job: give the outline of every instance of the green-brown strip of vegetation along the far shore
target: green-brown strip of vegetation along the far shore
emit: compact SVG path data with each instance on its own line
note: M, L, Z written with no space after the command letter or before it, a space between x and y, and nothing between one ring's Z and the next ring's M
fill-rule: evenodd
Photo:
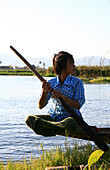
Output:
M43 76L55 76L53 67L40 68L36 70ZM0 75L34 75L31 70L0 70ZM110 66L76 66L74 73L76 77L96 78L96 77L110 77Z

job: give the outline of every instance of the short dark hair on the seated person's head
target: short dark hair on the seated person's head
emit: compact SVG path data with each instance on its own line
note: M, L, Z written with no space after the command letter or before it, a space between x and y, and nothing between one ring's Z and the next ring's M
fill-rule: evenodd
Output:
M53 69L57 75L60 75L63 69L67 67L67 61L74 63L73 56L65 51L60 51L58 54L54 54L53 57Z

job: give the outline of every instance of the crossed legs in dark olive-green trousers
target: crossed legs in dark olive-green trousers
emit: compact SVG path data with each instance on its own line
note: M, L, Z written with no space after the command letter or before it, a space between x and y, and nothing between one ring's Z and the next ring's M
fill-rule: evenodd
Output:
M65 135L68 132L77 132L81 128L71 117L61 122L52 122L49 115L30 115L26 118L26 124L36 133L43 136Z

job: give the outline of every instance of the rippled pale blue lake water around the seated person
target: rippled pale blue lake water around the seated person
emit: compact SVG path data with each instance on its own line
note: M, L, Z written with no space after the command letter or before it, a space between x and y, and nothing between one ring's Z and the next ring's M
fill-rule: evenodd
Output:
M49 78L46 78L49 79ZM110 127L110 84L84 84L86 103L81 109L89 125ZM38 156L36 147L44 149L53 144L64 145L65 137L43 137L34 134L25 124L32 114L47 114L51 105L38 109L41 82L29 76L0 76L0 159L22 160L31 154Z

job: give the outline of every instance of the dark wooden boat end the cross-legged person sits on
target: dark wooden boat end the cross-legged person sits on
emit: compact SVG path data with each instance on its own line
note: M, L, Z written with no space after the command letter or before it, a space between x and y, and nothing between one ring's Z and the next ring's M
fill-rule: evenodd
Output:
M97 128L96 126L91 126L91 128L101 137L104 139L104 141L107 144L110 144L110 128ZM63 136L65 136L65 134L61 134ZM78 138L78 139L83 139L83 140L89 140L92 141L91 138L85 133L85 132L81 132L81 133L69 133L68 137L72 137L72 138Z

